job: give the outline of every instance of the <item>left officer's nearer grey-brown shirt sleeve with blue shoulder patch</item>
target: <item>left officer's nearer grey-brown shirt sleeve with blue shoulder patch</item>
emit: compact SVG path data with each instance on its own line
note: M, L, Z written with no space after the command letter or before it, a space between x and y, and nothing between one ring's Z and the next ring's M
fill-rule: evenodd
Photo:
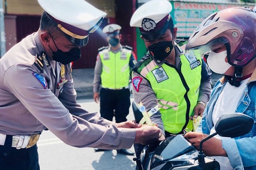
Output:
M37 74L38 78L33 76L34 72L36 70L31 65L10 67L4 74L4 87L63 142L76 147L106 149L132 146L136 129L117 128L113 124L102 126L72 116L51 90L47 89L45 78Z

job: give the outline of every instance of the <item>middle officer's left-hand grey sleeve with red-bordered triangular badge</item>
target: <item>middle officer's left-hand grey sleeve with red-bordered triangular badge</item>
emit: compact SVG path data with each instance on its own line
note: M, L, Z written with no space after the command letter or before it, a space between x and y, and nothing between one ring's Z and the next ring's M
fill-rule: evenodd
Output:
M157 97L151 88L150 83L140 74L132 73L132 93L136 103L142 102L148 112L157 105ZM157 111L150 117L151 121L158 124L162 133L165 134L161 113Z

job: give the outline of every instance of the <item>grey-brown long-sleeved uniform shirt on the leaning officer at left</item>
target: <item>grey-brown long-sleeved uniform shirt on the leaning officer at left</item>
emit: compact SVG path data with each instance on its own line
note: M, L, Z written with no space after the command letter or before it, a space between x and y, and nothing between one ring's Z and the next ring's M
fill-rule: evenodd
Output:
M41 134L47 128L75 147L130 148L135 129L117 128L99 113L82 109L76 103L71 64L64 66L65 73L59 62L36 64L35 56L42 51L35 32L0 59L0 133ZM64 78L67 82L58 86Z

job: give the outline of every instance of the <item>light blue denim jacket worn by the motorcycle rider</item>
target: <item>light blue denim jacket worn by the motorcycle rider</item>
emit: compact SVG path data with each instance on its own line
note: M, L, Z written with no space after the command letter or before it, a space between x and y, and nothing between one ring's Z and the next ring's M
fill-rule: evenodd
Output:
M210 134L212 123L212 111L219 94L226 85L222 77L215 84L210 100L204 110L202 122L197 131ZM244 113L254 119L252 130L238 138L222 139L222 148L226 151L231 166L235 170L256 170L256 69L246 84L246 88L238 102L236 112ZM227 106L228 107L228 106Z

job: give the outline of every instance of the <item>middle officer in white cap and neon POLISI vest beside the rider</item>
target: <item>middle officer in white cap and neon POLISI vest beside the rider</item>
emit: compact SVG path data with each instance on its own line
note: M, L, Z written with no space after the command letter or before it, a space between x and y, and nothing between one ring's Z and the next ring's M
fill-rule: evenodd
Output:
M171 11L169 1L151 0L135 11L130 22L139 28L148 49L133 67L134 100L154 113L151 120L165 137L183 134L185 128L192 130L191 119L202 115L211 92L206 63L196 58L196 53L184 54L185 42L174 41L177 27ZM156 105L160 108L157 112L153 109Z

